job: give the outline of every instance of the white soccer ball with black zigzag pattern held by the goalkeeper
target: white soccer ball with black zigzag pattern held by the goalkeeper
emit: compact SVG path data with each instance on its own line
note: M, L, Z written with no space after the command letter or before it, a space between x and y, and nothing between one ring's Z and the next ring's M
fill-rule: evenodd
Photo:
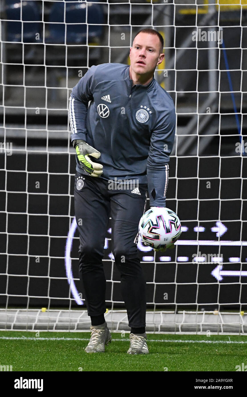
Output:
M181 234L179 217L169 208L150 208L141 217L139 234L145 245L154 249L169 248Z

